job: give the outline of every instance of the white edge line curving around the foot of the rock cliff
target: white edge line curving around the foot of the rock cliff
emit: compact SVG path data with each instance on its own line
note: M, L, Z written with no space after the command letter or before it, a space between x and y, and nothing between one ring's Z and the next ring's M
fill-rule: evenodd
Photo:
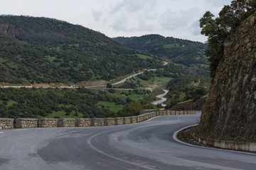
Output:
M196 124L196 125L198 125L198 124ZM178 132L181 132L182 130L185 130L187 128L191 128L191 127L196 126L196 125L190 125L186 128L182 128L181 130L178 130L178 131L174 132L174 135L173 135L174 140L176 140L176 142L182 143L183 145L188 145L188 146L191 146L191 147L199 147L199 148L203 148L203 149L212 149L212 150L225 151L225 152L233 152L233 153L238 153L238 154L250 154L250 155L253 155L253 156L256 155L256 154L249 153L249 152L240 152L240 151L234 151L234 150L228 150L228 149L218 149L218 148L214 148L214 147L201 147L201 146L198 146L198 145L188 144L188 143L183 142L183 141L178 139Z

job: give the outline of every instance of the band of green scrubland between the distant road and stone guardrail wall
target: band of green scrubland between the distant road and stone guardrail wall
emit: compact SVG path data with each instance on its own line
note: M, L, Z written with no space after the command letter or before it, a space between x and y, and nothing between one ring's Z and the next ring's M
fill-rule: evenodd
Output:
M78 89L0 89L1 118L104 118L149 94L134 91ZM137 98L139 96L139 98ZM137 102L135 102L137 103ZM138 103L137 103L138 104ZM137 114L132 104L127 111ZM121 114L122 115L122 114ZM119 115L119 116L121 116Z

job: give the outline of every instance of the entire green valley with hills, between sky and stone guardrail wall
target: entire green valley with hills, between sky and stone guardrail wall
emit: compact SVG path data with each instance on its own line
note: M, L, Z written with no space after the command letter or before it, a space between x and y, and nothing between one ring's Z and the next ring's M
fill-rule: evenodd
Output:
M51 18L0 16L0 47L3 118L137 115L200 98L210 84L201 42L108 38ZM162 89L166 102L152 104Z

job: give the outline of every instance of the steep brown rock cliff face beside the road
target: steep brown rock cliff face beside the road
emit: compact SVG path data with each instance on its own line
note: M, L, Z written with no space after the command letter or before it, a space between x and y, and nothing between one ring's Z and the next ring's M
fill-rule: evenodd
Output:
M256 13L228 42L199 128L240 140L256 140Z

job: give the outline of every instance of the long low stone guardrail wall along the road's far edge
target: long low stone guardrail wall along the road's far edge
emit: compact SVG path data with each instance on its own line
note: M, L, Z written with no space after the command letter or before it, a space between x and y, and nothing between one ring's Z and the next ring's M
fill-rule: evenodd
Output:
M16 118L16 128L57 128L124 125L139 123L159 115L192 115L196 111L156 111L124 118ZM0 129L14 128L14 119L0 118Z

